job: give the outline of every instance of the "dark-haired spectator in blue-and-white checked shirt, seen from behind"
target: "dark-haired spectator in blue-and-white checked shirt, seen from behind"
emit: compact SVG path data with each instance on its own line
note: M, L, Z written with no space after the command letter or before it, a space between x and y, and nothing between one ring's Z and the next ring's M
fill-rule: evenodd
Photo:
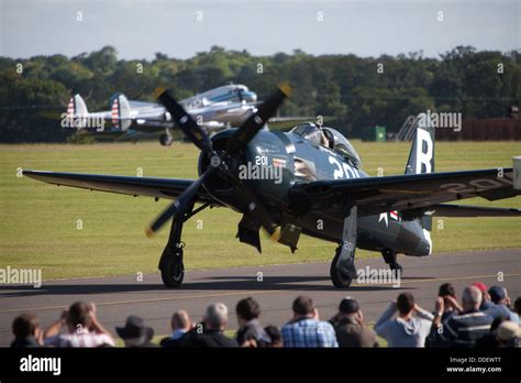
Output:
M292 311L291 320L282 326L285 348L339 347L333 326L329 321L319 319L319 311L310 297L297 297L292 304Z

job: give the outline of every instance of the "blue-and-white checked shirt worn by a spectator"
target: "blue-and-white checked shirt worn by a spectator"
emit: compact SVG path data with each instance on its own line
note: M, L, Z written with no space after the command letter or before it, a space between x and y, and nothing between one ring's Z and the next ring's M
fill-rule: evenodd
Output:
M303 318L282 327L284 347L339 347L333 326L328 321Z

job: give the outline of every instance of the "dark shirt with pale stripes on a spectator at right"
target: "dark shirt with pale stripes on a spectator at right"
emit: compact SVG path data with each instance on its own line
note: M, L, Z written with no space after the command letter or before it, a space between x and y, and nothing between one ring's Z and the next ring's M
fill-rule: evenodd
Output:
M473 347L478 338L489 332L492 320L483 311L455 315L443 324L443 335L451 347Z

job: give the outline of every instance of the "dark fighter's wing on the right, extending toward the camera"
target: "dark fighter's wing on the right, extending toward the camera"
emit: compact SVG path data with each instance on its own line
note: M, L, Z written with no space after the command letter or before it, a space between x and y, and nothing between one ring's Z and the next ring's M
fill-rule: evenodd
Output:
M293 185L291 204L298 209L331 208L350 196L359 215L411 210L458 199L488 200L520 195L513 189L512 168L410 174L317 180Z

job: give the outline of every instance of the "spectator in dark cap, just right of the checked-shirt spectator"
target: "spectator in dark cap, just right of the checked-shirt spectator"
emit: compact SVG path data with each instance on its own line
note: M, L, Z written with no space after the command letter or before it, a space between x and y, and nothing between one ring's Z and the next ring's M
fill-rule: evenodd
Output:
M378 347L376 333L364 326L364 314L355 299L342 299L330 322L334 324L339 347Z

